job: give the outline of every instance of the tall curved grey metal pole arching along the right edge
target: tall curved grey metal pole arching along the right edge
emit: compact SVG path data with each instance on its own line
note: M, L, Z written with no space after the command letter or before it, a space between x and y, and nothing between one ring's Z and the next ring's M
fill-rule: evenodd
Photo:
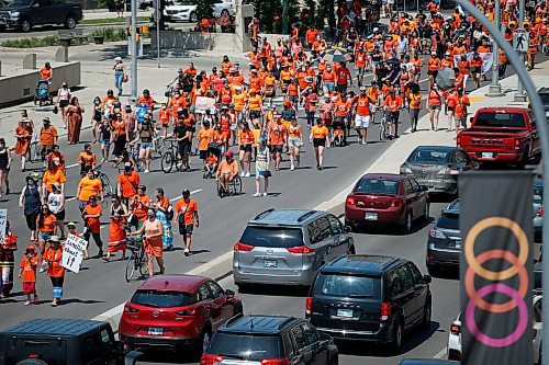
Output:
M547 126L547 118L541 103L541 99L531 81L526 68L524 67L524 61L514 52L513 47L505 36L500 32L500 30L492 24L480 11L468 0L456 0L463 9L466 9L471 15L473 15L492 35L495 42L502 47L503 52L507 55L507 59L515 69L518 79L522 81L526 93L530 98L531 110L534 112L534 117L536 118L538 125L539 139L541 141L541 163L544 169L544 185L549 186L549 128ZM524 1L524 0L523 0ZM523 2L522 1L522 2ZM524 9L524 3L523 3ZM547 196L544 196L544 205ZM549 242L549 215L544 215L544 229L542 229L542 242ZM549 293L549 244L544 244L544 272L542 272L542 287L544 293ZM549 300L544 300L542 303L544 316L547 318L549 316ZM544 338L549 339L549 326L544 326ZM542 363L544 365L549 365L549 341L544 341L541 344L541 353L544 354Z

